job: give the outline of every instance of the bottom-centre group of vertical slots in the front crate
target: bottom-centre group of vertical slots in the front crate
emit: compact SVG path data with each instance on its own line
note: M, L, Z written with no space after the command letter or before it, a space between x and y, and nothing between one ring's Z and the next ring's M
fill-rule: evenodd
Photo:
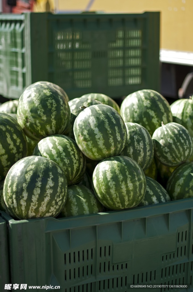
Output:
M117 277L112 279L106 279L99 281L98 283L99 292L106 291L124 291L127 288L127 277Z

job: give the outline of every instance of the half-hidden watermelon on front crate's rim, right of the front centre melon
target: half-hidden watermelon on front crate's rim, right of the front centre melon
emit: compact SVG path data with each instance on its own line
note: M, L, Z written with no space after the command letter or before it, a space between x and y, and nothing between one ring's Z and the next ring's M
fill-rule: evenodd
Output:
M160 183L146 176L145 196L138 206L153 205L171 201L169 194Z

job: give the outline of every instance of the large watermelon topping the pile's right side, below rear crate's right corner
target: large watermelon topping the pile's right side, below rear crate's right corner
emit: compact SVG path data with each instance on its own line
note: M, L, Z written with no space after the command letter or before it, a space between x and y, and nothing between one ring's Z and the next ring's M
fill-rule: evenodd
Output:
M121 103L121 117L124 122L137 123L148 130L150 135L164 124L172 122L168 101L157 91L143 89L129 94Z

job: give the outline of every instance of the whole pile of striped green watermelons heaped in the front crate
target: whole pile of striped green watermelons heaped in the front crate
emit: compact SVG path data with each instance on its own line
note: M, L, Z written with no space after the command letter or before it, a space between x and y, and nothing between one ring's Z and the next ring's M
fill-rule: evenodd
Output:
M193 100L140 90L119 105L39 81L0 105L0 210L23 220L193 197Z

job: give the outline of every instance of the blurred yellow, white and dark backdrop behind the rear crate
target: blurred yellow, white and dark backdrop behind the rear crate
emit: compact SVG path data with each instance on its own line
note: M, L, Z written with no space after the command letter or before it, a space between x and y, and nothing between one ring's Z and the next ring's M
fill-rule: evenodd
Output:
M192 0L1 0L2 13L143 13L160 11L160 93L170 99L193 94Z

